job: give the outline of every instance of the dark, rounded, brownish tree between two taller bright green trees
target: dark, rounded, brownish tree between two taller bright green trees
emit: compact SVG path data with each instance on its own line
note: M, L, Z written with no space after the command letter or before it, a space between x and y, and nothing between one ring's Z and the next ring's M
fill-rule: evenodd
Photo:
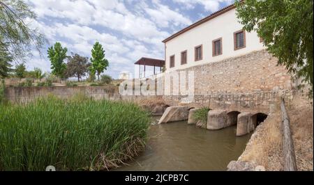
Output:
M79 54L72 54L68 56L68 63L66 64L66 77L77 77L77 81L80 81L82 77L85 77L89 71L91 63L88 62L89 58L80 56Z

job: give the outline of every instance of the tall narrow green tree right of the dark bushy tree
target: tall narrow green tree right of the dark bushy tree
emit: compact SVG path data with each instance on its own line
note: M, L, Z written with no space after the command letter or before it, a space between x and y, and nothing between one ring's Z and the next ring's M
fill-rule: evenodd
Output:
M91 49L91 74L97 74L98 81L100 73L107 70L109 63L105 58L105 50L99 42L96 42L93 49Z

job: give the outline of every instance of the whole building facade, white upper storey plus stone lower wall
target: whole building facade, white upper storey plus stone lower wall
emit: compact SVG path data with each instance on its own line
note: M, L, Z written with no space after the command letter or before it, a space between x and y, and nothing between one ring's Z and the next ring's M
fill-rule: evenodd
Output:
M267 113L280 97L292 99L294 83L285 66L278 65L257 33L242 28L231 5L166 38L165 76L193 72L192 102L197 106L262 108ZM166 89L179 88L170 80ZM186 98L182 92L163 98L179 104Z

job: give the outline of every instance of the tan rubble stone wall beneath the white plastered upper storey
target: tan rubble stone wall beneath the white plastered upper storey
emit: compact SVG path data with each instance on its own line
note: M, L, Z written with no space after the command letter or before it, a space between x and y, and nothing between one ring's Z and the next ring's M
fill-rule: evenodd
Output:
M279 97L289 102L294 95L290 74L267 51L253 51L244 56L216 63L189 67L194 72L194 99L190 106L209 106L235 110L269 112ZM171 82L170 87L173 84ZM188 85L187 85L188 86ZM178 88L174 85L174 88ZM172 92L172 90L170 90ZM176 105L187 96L164 95L165 102Z

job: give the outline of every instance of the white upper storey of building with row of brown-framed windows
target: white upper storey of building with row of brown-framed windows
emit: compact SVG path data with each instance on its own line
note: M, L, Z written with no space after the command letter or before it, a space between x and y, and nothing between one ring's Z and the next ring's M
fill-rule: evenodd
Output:
M165 71L214 63L265 48L257 33L242 28L235 6L230 5L171 35L163 40Z

